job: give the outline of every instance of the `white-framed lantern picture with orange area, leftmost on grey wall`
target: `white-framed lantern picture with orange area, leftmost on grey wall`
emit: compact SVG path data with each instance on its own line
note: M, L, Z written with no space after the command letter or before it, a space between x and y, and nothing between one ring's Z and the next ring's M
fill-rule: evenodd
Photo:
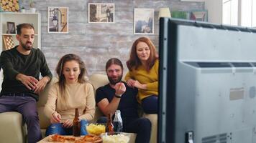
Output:
M48 7L48 33L68 33L68 7Z

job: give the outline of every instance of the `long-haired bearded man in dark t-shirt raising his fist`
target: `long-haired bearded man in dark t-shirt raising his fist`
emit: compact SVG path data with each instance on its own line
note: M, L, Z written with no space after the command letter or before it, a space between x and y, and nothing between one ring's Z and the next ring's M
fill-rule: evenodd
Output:
M112 58L106 62L106 74L109 84L96 90L96 103L106 116L121 111L123 132L136 133L135 142L150 142L151 122L146 118L139 118L137 113L137 89L128 87L121 82L123 65L119 59ZM106 117L101 117L98 122L106 123Z

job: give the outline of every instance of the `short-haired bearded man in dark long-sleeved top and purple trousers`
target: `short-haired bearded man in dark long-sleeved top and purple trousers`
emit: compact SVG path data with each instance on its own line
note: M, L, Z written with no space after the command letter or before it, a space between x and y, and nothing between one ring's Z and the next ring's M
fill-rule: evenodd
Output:
M19 24L16 38L19 45L2 51L0 56L0 65L4 70L0 113L21 113L27 124L28 142L35 143L42 139L36 102L38 94L52 79L52 74L42 51L32 47L35 39L32 24Z

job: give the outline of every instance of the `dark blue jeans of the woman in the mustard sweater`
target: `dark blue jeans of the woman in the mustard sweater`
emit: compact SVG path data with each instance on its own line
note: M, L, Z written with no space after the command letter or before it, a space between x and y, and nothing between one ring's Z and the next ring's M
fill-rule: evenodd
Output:
M147 114L157 114L158 112L158 97L151 95L142 99L142 109Z

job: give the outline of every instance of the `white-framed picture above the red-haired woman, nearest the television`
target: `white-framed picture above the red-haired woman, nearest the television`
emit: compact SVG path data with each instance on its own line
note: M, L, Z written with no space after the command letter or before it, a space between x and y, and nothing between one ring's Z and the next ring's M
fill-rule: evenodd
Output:
M155 9L134 9L134 34L154 34Z

